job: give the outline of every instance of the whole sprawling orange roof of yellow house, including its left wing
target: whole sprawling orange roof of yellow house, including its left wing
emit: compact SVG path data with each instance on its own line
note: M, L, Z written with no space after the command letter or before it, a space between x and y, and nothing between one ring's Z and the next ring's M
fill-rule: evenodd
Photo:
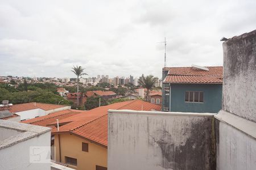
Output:
M130 100L114 103L90 111L60 111L48 114L47 116L32 118L23 123L48 126L52 128L52 134L69 132L80 135L90 141L94 141L103 146L108 146L108 110L109 109L130 109L135 111L160 111L161 106L148 103L142 100ZM80 112L80 113L74 113ZM59 124L64 124L57 131L56 119Z

